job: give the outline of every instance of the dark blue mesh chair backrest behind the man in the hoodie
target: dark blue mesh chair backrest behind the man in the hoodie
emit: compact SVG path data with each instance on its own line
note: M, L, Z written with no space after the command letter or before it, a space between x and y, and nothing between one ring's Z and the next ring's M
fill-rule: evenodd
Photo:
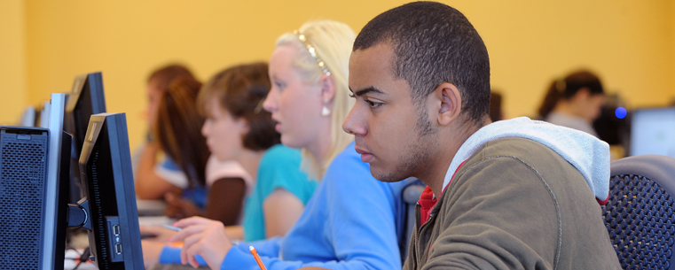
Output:
M675 269L675 158L641 155L611 163L605 226L624 269Z

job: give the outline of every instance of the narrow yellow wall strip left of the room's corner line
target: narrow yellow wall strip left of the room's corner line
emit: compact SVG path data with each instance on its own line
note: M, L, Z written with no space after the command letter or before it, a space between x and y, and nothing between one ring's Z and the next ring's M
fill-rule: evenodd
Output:
M27 104L24 6L0 1L0 125L16 125Z

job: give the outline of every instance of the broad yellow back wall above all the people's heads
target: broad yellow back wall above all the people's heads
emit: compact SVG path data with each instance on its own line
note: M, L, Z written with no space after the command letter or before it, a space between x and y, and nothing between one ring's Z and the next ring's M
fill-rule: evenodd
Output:
M632 108L665 104L675 93L671 1L445 2L464 12L483 35L491 55L492 85L505 94L508 117L532 115L548 82L581 66L599 73L608 91L619 93ZM102 71L107 109L127 112L133 148L145 131L144 84L153 68L183 62L206 80L224 66L267 59L277 36L308 19L337 19L357 31L375 15L403 3L4 2L0 8L12 5L11 11L25 4L25 26L12 23L20 19L8 22L0 16L0 27L16 27L11 32L19 41L26 36L24 49L13 51L26 51L27 57L3 61L0 72L13 71L15 65L27 68L27 75L18 76L24 79L12 78L27 96L23 104L14 102L22 108L42 102L51 92L69 90L77 74ZM0 75L0 80L5 77ZM3 97L8 91L0 88ZM4 111L17 115L20 108Z

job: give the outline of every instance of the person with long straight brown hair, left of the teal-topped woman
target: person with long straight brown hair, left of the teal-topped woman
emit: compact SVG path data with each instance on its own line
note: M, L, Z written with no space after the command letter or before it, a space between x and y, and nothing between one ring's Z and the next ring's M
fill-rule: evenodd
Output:
M201 135L204 117L197 108L201 83L191 76L180 76L161 92L153 135L170 160L173 160L187 184L180 185L179 196L168 192L167 216L182 219L203 216L220 220L226 226L239 224L245 192L233 182L244 181L248 175L234 161L212 164L207 177L209 150ZM213 162L213 160L211 160ZM216 167L214 169L213 167ZM214 177L214 170L221 177ZM218 185L212 185L216 181ZM208 196L213 193L215 196Z

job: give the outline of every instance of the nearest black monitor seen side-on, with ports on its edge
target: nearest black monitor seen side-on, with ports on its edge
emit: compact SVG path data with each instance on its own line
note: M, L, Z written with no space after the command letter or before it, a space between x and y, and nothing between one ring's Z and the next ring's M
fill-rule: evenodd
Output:
M82 195L89 204L94 263L99 269L143 269L124 113L90 117L79 165Z

